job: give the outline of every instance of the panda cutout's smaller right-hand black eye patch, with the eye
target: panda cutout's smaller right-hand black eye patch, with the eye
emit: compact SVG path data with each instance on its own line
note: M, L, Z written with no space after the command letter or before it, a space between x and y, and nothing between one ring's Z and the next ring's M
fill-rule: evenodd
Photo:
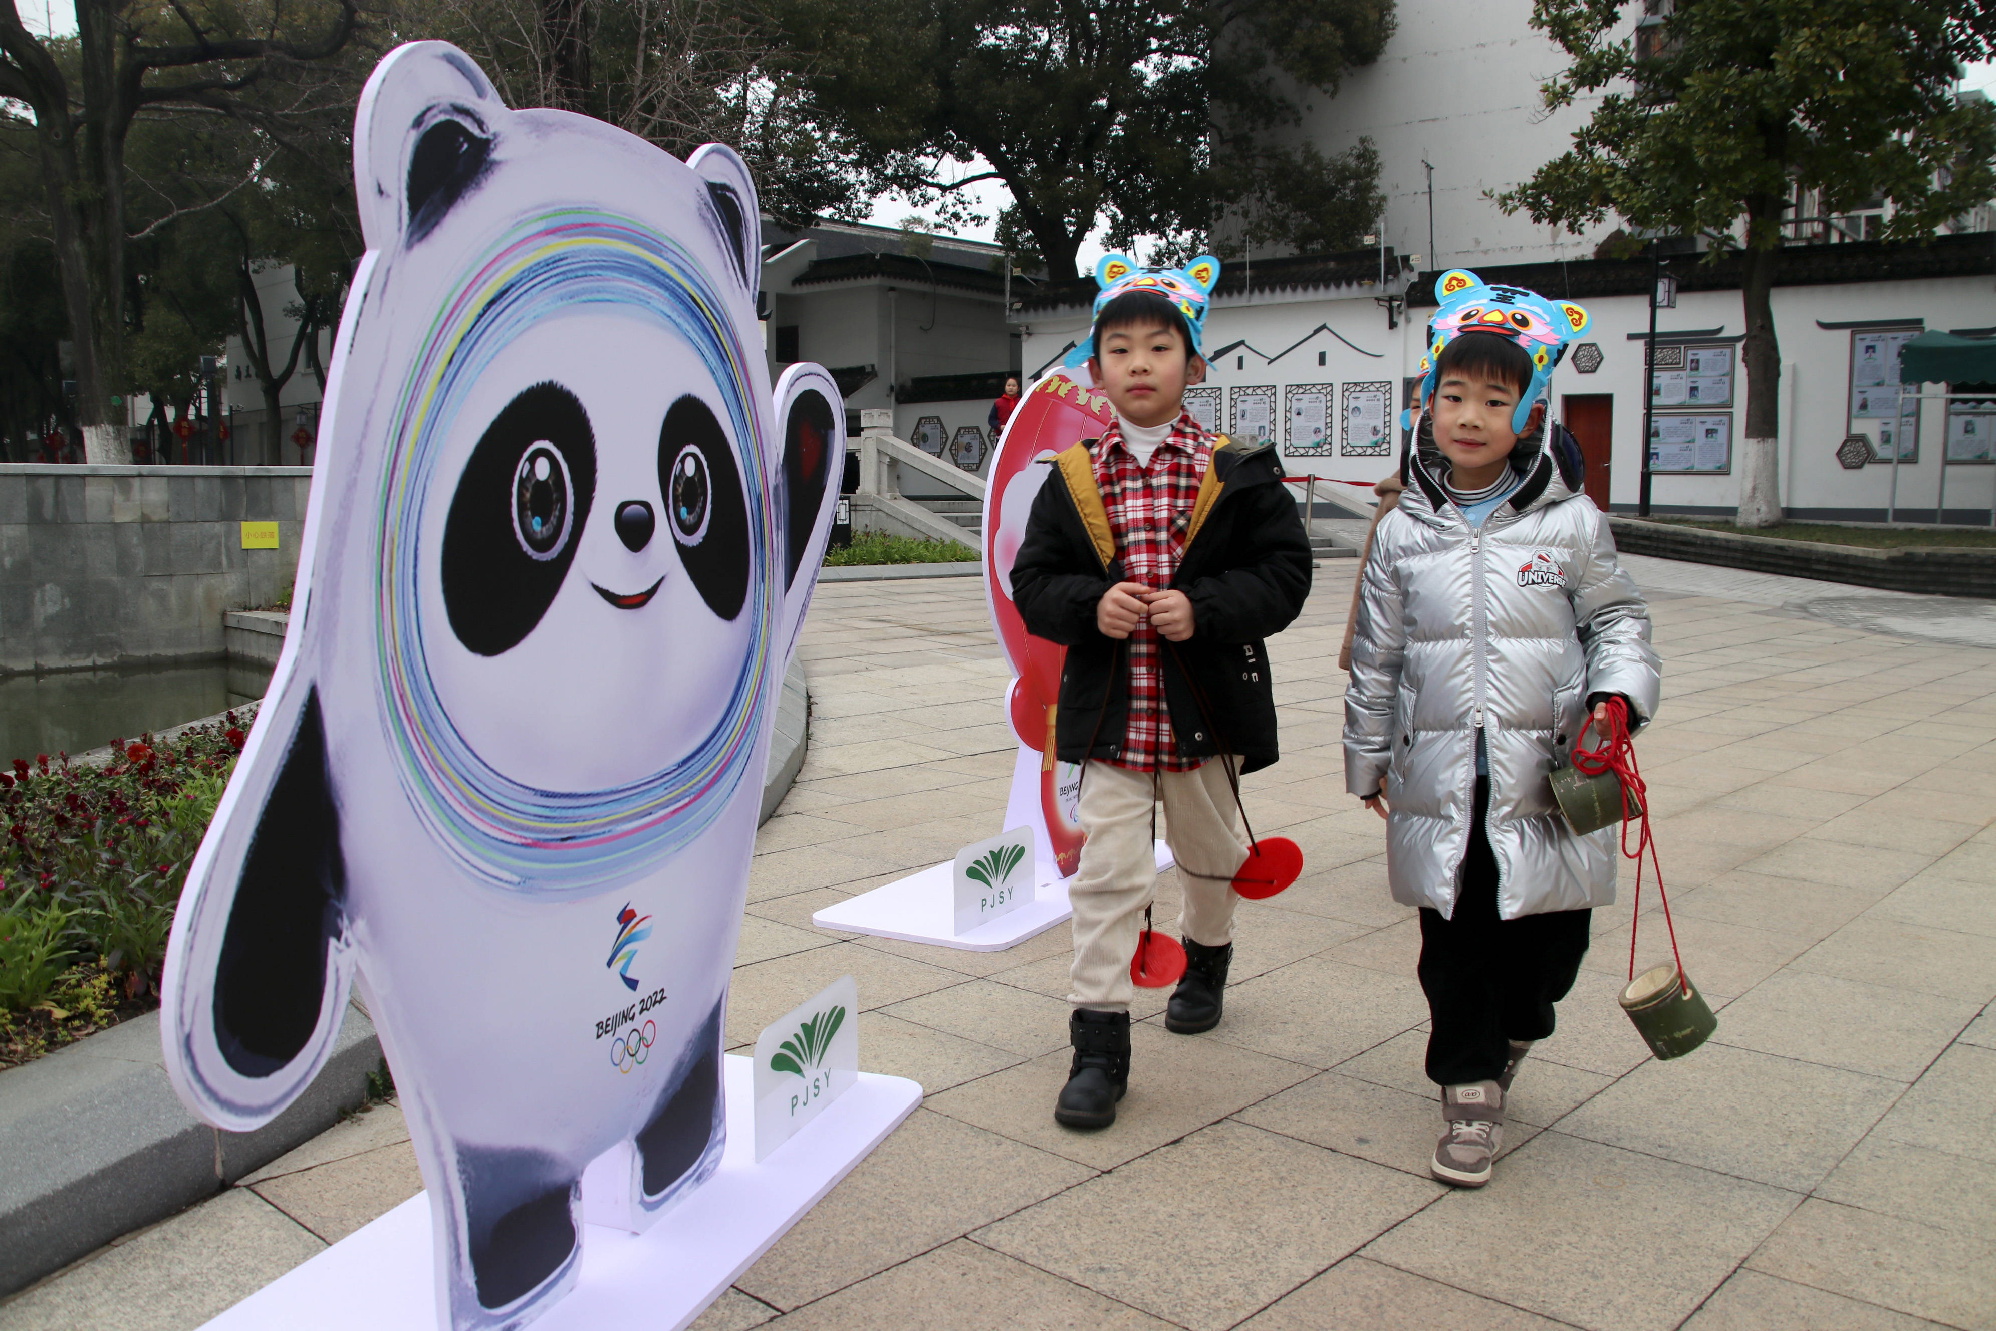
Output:
M733 621L748 599L748 501L727 431L699 397L665 413L659 491L679 563L707 609Z

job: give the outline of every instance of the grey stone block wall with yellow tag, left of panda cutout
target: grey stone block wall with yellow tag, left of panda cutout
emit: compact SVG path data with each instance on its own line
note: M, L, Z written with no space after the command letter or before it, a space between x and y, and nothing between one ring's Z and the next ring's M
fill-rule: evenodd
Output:
M0 674L220 657L297 569L307 467L0 465ZM277 549L242 549L244 521Z

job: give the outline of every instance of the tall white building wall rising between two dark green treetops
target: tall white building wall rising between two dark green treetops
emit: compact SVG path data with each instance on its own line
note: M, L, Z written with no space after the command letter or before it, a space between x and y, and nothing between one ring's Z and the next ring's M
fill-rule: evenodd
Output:
M1635 30L1641 6L1631 6ZM1475 267L1593 257L1609 222L1587 235L1507 218L1483 198L1523 184L1567 152L1599 98L1547 114L1539 84L1567 66L1531 20L1531 0L1399 0L1381 58L1345 76L1335 98L1305 92L1301 124L1281 136L1343 152L1359 138L1379 150L1387 196L1385 243L1421 255L1421 267ZM1435 243L1429 247L1427 170L1435 166Z

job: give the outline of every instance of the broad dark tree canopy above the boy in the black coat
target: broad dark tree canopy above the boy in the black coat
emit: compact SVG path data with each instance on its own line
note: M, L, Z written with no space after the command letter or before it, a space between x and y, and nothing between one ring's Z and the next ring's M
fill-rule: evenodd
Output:
M802 86L876 188L934 202L1002 180L1000 227L1056 277L1098 222L1112 243L1355 243L1379 214L1369 146L1281 144L1299 92L1379 56L1389 0L772 0ZM964 170L972 162L988 172Z

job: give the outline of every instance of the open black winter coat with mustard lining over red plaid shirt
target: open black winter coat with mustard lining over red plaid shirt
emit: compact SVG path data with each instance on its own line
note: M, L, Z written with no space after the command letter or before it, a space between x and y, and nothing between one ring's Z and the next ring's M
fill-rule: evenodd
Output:
M1062 762L1114 760L1130 718L1126 643L1096 629L1096 603L1124 581L1086 439L1052 461L1012 563L1012 603L1034 637L1068 649L1054 748ZM1042 463L1046 465L1046 463ZM1192 637L1158 639L1180 754L1275 762L1275 696L1263 639L1309 597L1309 537L1271 443L1226 435L1200 485L1172 587L1192 601Z

